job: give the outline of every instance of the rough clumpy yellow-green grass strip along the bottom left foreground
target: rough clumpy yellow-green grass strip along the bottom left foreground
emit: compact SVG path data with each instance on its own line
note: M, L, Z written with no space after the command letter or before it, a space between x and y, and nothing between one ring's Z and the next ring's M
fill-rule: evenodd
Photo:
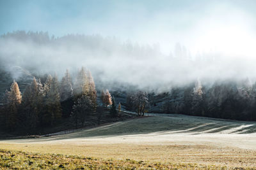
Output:
M0 149L1 169L227 169L198 164L148 163L135 160L95 159L61 154L41 154Z

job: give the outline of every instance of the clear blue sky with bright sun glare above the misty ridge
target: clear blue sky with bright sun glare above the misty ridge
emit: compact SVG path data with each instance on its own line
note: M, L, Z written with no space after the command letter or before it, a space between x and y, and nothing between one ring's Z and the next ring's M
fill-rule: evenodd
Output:
M0 0L0 34L17 30L54 36L100 34L157 44L166 54L180 43L192 55L214 51L252 57L255 7L253 0Z

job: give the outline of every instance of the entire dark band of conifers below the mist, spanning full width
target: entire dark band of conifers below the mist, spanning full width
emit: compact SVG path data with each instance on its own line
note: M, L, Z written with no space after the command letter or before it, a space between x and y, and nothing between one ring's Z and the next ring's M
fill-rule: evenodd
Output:
M255 121L256 85L248 81L215 82L211 87L196 81L160 94L138 90L128 92L122 105L125 110L138 113L139 117L154 112L150 109L158 104L158 113ZM157 103L159 100L163 102ZM108 89L97 96L92 74L84 67L74 78L68 70L61 80L49 74L42 83L40 78L34 77L23 92L13 81L3 101L1 122L4 129L24 129L32 133L38 133L42 127L54 127L67 118L74 127L84 127L89 117L99 118L100 110L108 110L113 118L118 117L117 112L121 110L121 103L117 106Z

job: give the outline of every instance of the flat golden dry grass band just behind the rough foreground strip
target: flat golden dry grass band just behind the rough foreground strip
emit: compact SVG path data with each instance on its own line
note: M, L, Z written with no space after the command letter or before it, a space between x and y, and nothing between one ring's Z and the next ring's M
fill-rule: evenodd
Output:
M115 160L143 160L150 163L191 163L227 167L256 167L256 152L238 148L218 148L205 145L135 145L121 144L1 144L8 150L38 153L61 153Z

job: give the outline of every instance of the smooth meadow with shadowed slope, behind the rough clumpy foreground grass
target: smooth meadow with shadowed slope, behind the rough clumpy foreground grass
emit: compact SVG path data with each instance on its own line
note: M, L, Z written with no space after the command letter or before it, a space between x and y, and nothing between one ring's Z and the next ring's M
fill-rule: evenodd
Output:
M63 164L61 162L67 162L68 159L70 167L67 166L67 169L74 167L72 161L79 162L76 166L87 164L87 160L81 157L93 157L97 159L96 162L100 161L102 166L112 161L113 166L109 167L110 169L114 167L148 169L148 166L153 168L155 164L163 166L155 167L156 169L171 167L254 169L256 167L255 132L255 122L159 115L116 122L92 129L81 129L47 138L2 140L0 148L39 155L45 153L46 155L42 157L56 158L54 161L57 163L54 163L54 166L60 166ZM20 157L24 157L23 152L17 153ZM56 155L52 156L48 153L72 155L72 159L63 155L59 159ZM9 153L2 151L1 154ZM93 163L94 159L90 161L90 164L96 164ZM138 163L141 161L147 166ZM3 164L2 162L1 166ZM84 166L86 167L88 166ZM97 168L102 169L95 167Z

